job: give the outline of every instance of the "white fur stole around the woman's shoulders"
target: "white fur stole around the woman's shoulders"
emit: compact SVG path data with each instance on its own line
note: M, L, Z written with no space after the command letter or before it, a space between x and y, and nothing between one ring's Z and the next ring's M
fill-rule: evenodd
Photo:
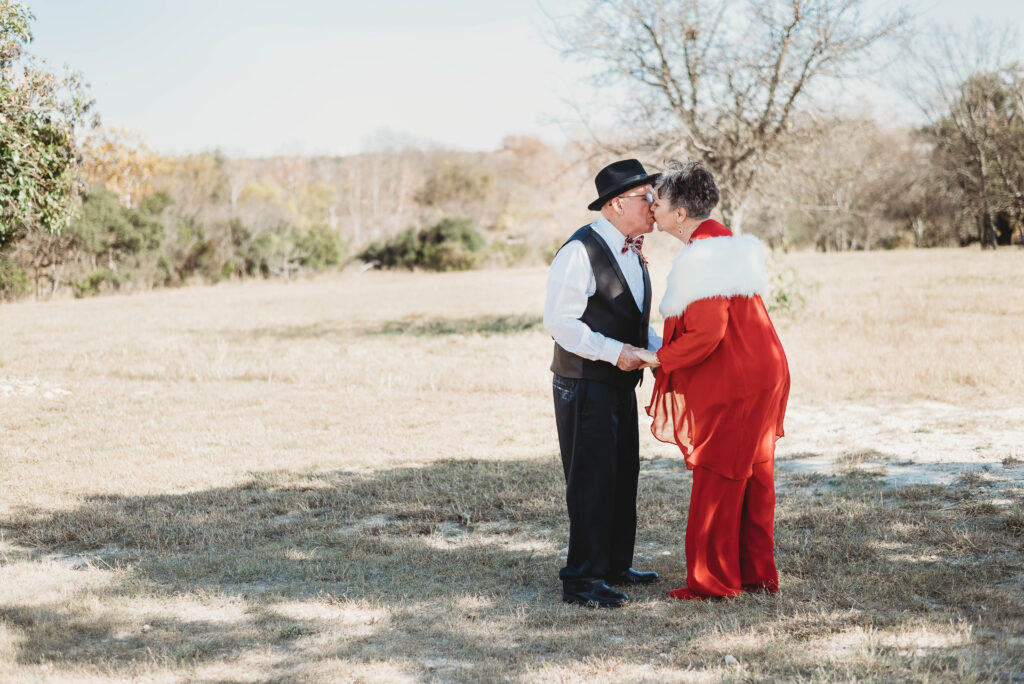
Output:
M710 297L768 297L765 251L754 236L723 236L695 240L672 262L659 310L666 318Z

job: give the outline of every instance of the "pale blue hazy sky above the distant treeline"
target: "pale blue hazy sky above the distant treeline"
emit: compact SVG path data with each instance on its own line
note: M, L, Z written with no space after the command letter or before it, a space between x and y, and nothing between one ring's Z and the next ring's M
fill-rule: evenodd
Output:
M888 4L876 0L880 5ZM565 2L543 0L552 11ZM910 0L927 19L1024 26L1020 0ZM382 131L493 148L563 141L582 68L538 0L35 0L31 50L84 72L104 123L159 149L350 154Z

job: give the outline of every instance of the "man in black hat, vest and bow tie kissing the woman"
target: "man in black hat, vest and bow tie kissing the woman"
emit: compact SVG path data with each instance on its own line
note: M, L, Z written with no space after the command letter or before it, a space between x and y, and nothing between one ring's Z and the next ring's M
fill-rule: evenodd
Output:
M555 423L565 471L569 551L562 600L620 607L629 596L609 585L649 584L656 572L633 564L640 442L639 353L657 349L650 328L650 276L641 254L653 228L649 175L635 159L597 174L601 217L577 230L551 263L544 327L555 340L551 364Z

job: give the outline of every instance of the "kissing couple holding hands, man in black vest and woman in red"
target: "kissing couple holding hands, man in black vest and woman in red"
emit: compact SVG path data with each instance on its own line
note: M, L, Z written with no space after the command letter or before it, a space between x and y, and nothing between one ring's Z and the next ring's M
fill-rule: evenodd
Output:
M555 340L552 390L565 473L567 603L616 608L615 589L659 581L633 568L640 473L636 387L654 374L651 432L693 471L680 600L778 591L775 440L790 369L765 309L764 248L711 218L719 191L698 163L648 174L628 159L595 178L600 217L551 263L544 326ZM642 247L654 227L682 243L650 327ZM680 493L682 497L683 493Z

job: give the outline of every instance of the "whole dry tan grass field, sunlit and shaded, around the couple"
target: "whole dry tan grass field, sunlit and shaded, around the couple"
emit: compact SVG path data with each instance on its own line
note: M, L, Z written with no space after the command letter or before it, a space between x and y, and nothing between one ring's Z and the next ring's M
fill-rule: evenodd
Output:
M559 601L543 268L0 306L0 680L1024 680L1024 252L777 262L781 592L667 598L642 421L618 611Z

